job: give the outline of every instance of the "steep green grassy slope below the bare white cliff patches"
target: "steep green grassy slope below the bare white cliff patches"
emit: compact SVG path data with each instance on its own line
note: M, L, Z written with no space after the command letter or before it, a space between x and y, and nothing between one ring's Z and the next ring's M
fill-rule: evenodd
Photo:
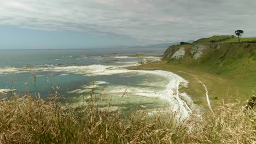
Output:
M168 59L169 64L178 64L186 67L197 67L226 77L252 75L256 70L256 44L219 44L220 49L208 49L199 59L193 59L187 47L184 58L176 61ZM176 51L179 46L171 47ZM236 73L237 72L237 73ZM241 75L240 75L241 74Z

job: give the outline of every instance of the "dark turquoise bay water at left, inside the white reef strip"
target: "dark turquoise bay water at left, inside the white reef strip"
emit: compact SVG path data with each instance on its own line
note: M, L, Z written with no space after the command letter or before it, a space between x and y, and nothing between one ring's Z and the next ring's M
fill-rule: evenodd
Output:
M18 73L18 74L0 74L0 87L17 89L16 92L24 93L40 93L43 97L47 97L49 92L53 92L52 86L60 87L60 92L65 95L69 89L75 89L81 85L86 85L91 79L86 79L83 75L69 74L61 76L61 72L57 71L42 71L35 72L36 87L34 86L33 73Z

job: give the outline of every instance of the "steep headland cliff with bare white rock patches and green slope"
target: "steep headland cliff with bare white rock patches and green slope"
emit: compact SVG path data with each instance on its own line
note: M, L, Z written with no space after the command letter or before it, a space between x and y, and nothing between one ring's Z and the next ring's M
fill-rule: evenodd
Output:
M256 78L256 44L170 46L162 60L188 68L207 70L225 77L254 75Z

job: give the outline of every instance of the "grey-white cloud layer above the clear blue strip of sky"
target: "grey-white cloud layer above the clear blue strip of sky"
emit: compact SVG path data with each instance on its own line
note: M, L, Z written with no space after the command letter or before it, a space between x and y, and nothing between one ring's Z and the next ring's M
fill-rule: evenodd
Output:
M138 44L256 34L255 0L0 0L0 25L116 34Z

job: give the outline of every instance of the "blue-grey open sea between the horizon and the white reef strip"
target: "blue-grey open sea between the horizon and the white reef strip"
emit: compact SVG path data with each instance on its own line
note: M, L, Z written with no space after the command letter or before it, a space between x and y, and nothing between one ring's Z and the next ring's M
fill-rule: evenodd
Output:
M162 55L164 49L85 49L85 50L0 50L0 67L25 65L121 65L116 62L136 62L142 58L110 58L109 56Z

